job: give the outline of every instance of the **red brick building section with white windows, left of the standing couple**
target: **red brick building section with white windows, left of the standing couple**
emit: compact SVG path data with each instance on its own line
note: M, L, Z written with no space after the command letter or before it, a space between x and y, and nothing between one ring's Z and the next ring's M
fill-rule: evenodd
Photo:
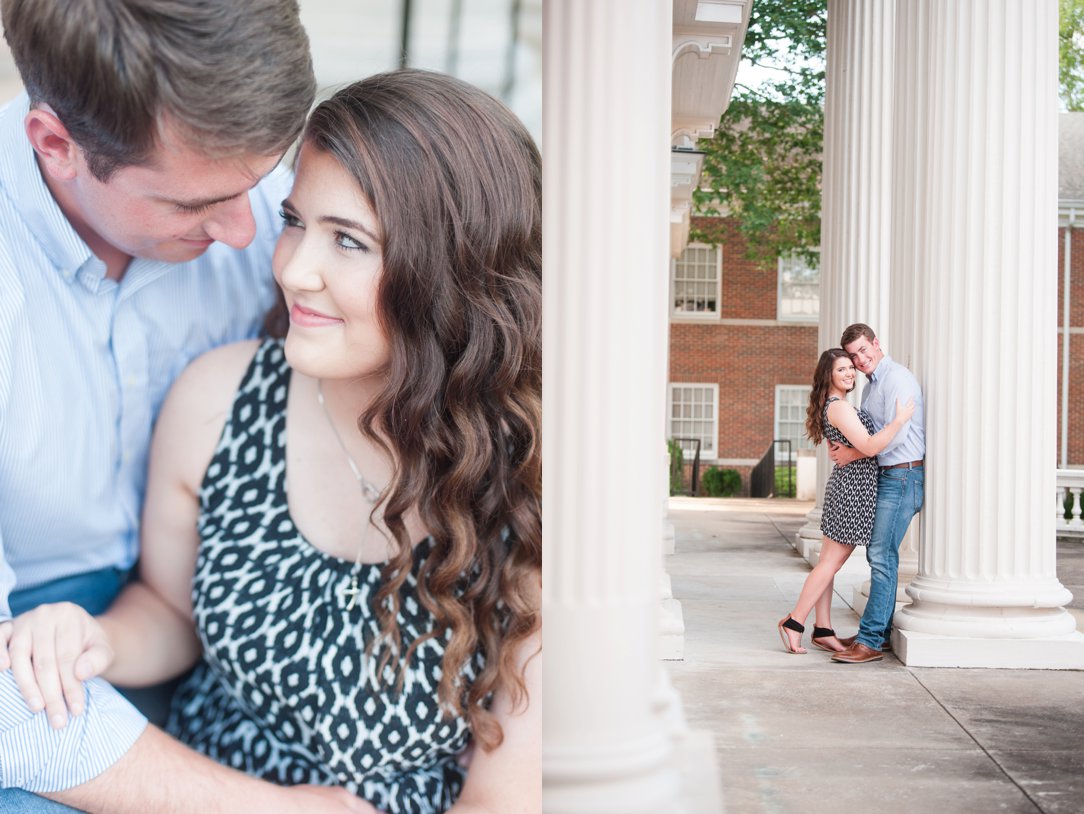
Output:
M694 225L695 225L694 219ZM707 466L749 473L774 439L804 440L817 358L818 275L795 260L757 266L733 223L719 246L671 262L671 438L700 440ZM686 463L692 445L684 442ZM782 451L782 449L780 449Z

